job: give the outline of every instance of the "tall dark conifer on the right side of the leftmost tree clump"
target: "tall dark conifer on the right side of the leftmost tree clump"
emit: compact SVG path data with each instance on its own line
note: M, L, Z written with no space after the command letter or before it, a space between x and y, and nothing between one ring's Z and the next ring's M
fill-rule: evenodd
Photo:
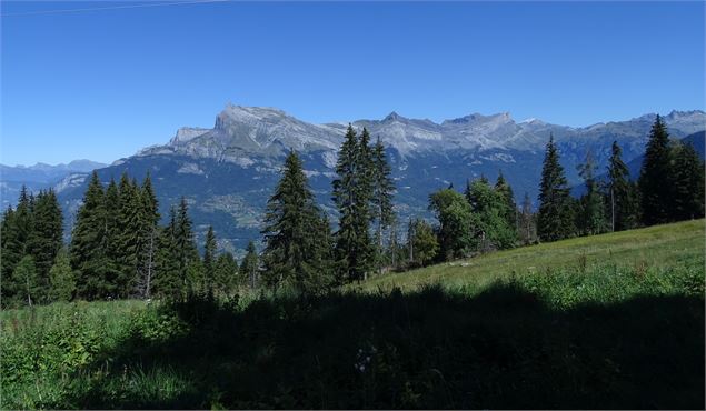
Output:
M32 231L28 239L28 254L34 259L43 301L49 292L49 270L63 243L63 218L53 190L40 191L32 210Z

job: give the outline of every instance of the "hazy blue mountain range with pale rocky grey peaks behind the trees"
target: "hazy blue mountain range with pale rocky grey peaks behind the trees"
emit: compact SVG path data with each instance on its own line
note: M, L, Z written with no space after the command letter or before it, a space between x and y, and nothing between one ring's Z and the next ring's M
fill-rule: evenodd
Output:
M518 122L507 112L474 113L443 122L391 112L381 120L357 120L351 124L359 130L366 127L374 139L379 138L386 146L398 190L396 210L404 223L410 215L428 215L431 191L450 184L460 190L467 179L481 174L494 181L503 172L518 200L527 192L536 201L550 134L557 141L567 179L578 184L576 166L591 151L599 169L605 170L614 140L623 148L626 162L638 159L655 117L650 113L575 128L537 119ZM706 129L706 113L699 110L673 111L664 120L675 139ZM212 128L181 128L167 143L145 148L100 168L98 173L107 183L123 171L138 179L149 171L162 217L183 196L191 204L199 240L212 224L221 247L242 249L247 241L259 238L265 204L289 150L299 152L319 203L335 214L330 181L347 127L348 123L309 123L274 108L228 104ZM4 186L6 176L11 173L4 167L1 171ZM69 227L87 176L86 170L72 171L52 183L67 211ZM3 192L3 202L7 199Z

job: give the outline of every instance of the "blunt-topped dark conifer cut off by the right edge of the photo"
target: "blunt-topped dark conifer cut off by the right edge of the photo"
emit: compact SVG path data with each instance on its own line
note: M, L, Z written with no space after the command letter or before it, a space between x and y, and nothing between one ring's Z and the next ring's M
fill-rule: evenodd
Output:
M672 157L672 218L689 220L704 217L704 162L688 143L675 147Z

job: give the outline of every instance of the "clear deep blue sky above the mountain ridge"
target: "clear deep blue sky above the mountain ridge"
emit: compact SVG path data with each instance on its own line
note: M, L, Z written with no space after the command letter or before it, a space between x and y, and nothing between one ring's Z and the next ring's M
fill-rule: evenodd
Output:
M178 0L173 0L176 2ZM2 2L0 162L110 162L227 102L307 121L704 109L704 3ZM153 4L153 3L152 3Z

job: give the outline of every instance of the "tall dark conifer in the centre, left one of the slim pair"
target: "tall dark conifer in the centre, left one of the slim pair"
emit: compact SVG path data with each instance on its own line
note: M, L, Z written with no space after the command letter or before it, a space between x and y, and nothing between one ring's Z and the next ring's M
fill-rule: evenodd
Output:
M372 217L372 157L369 140L366 129L358 139L356 131L348 126L338 152L338 178L332 186L334 202L339 212L336 255L340 282L364 280L374 263L374 244L369 232Z

